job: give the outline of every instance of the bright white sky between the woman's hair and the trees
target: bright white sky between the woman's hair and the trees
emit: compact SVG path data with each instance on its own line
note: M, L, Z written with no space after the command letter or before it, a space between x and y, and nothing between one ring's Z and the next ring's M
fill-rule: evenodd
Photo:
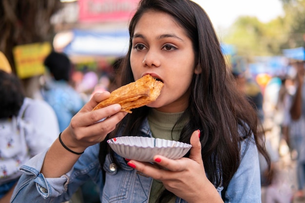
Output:
M284 11L280 0L193 0L207 12L214 28L228 28L239 16L255 16L268 22Z

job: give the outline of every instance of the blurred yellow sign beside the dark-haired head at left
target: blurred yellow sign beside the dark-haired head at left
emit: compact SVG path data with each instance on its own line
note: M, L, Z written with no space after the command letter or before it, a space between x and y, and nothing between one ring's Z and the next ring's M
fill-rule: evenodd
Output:
M49 42L25 44L14 47L13 55L19 78L44 74L43 61L51 52Z

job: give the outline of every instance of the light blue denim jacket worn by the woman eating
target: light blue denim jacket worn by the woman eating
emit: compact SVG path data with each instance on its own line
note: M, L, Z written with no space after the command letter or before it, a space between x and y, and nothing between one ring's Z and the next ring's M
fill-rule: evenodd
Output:
M139 136L152 136L147 120ZM250 139L253 138L241 143L241 163L228 185L225 203L261 203L258 151L254 141ZM118 168L107 155L103 166L106 171L104 183L98 161L99 144L87 148L74 167L59 178L45 178L39 173L46 152L38 154L21 166L23 174L14 190L11 203L68 201L77 188L90 178L99 185L102 203L148 203L152 178L137 173L126 164L124 157L115 154L122 165ZM217 190L221 195L223 187L220 186ZM175 203L186 201L177 197Z

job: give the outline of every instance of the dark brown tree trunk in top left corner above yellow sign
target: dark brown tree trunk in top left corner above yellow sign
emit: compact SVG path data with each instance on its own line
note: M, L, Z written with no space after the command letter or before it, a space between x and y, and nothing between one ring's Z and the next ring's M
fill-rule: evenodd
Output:
M16 45L51 41L50 18L61 8L59 0L1 0L0 51L15 71L12 50Z

